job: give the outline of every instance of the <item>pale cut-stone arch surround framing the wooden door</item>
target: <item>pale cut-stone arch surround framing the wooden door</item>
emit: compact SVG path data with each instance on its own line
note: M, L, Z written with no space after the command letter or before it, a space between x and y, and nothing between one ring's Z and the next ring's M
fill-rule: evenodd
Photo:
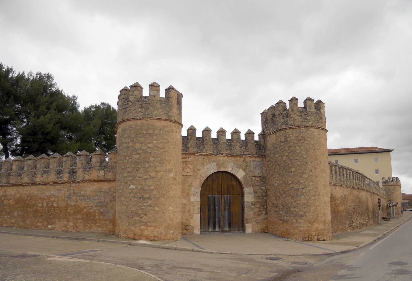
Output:
M226 171L240 181L243 187L244 194L244 220L245 220L245 232L252 233L252 222L254 221L254 195L253 187L250 177L237 165L229 161L216 161L204 166L199 172L198 178L192 187L192 196L190 201L192 202L191 220L190 225L194 229L194 234L200 234L200 192L201 186L204 180L218 171Z

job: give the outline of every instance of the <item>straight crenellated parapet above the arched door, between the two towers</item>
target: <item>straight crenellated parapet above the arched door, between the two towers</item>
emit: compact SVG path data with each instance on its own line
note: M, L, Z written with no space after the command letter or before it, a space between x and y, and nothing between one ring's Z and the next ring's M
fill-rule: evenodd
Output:
M196 128L190 126L187 136L182 136L182 153L199 153L229 156L264 156L264 146L255 141L255 133L247 130L245 139L241 139L241 132L236 128L226 138L226 130L220 128L216 138L212 138L212 130L208 127L202 130L202 137L196 137Z

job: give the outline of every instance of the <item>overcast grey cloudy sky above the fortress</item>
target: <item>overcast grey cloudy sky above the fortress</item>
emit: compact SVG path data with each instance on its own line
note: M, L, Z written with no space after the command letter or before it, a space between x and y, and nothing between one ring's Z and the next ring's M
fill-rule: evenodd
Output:
M0 35L0 61L52 73L81 107L116 107L136 81L146 95L172 84L184 135L257 138L278 100L321 99L328 147L395 149L393 176L412 193L410 0L0 0Z

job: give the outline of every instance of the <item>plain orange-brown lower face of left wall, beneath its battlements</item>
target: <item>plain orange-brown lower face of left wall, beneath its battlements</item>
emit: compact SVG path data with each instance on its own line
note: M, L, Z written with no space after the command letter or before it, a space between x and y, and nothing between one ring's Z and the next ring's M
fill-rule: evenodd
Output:
M115 232L115 181L0 186L0 225Z

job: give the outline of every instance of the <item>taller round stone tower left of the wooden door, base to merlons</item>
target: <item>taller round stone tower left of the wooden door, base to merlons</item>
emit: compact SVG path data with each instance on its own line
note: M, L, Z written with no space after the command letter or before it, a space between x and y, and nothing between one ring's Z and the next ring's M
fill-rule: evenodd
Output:
M181 238L182 97L150 84L124 87L117 102L116 235Z

